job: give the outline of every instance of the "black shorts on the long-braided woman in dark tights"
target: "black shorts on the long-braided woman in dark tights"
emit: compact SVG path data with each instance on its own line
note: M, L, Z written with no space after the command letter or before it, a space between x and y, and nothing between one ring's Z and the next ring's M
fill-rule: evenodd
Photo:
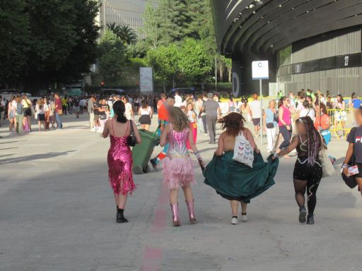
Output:
M299 158L293 171L293 179L308 181L309 179L322 179L323 169L320 160L315 161L313 166L308 164L308 158Z

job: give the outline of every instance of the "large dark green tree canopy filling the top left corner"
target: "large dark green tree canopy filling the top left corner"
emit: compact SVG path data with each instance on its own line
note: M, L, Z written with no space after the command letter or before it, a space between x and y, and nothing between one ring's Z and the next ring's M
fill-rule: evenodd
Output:
M0 83L34 89L81 79L95 62L98 8L96 0L1 1Z

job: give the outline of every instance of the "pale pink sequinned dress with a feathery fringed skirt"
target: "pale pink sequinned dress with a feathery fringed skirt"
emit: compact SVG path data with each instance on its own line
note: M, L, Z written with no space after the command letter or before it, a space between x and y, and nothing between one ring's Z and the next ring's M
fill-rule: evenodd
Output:
M170 147L167 156L163 160L163 183L170 189L189 186L195 182L194 167L186 145L187 138L189 138L188 127L179 132L175 131L171 126L168 132Z

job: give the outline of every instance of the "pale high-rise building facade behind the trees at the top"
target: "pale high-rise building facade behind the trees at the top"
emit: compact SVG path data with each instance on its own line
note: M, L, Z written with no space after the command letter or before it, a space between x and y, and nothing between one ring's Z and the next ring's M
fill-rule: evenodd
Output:
M103 35L105 24L116 23L128 25L138 37L144 38L144 33L140 30L143 26L142 14L149 0L102 0L98 22L100 33ZM156 0L153 0L156 4Z

